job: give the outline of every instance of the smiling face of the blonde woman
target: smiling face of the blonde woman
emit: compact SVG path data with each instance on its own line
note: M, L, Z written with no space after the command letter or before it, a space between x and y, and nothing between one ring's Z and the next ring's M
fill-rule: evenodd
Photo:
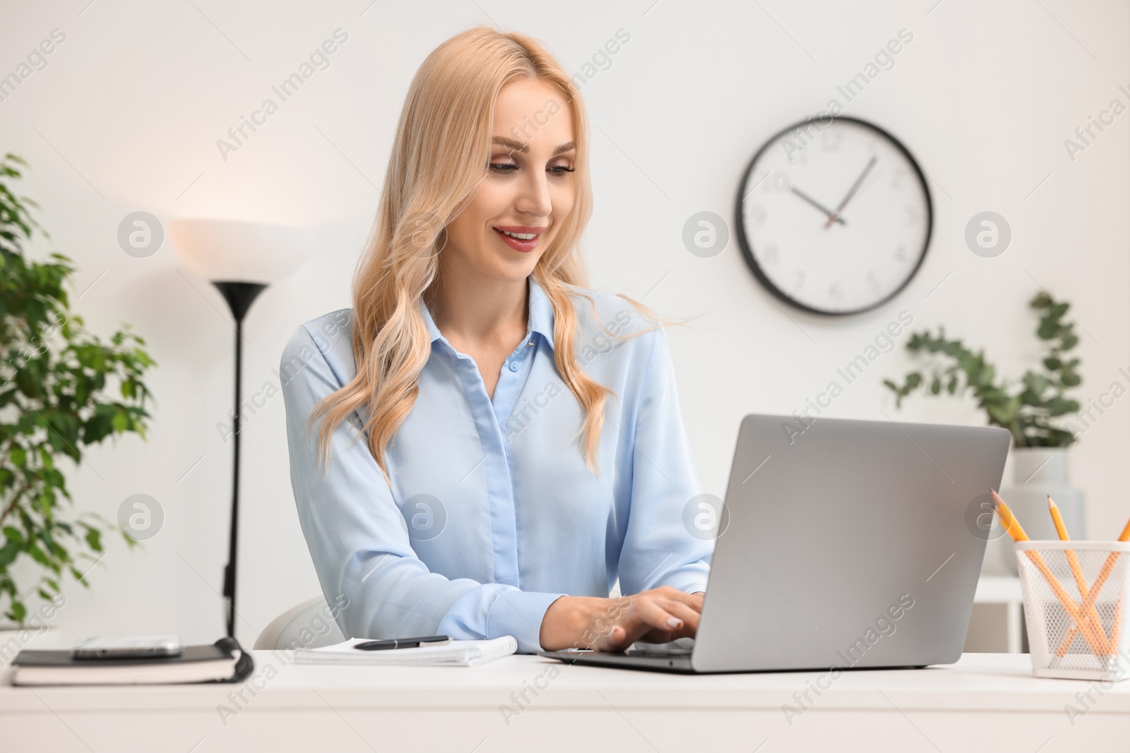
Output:
M442 265L524 280L557 235L576 195L573 112L551 86L511 81L495 102L486 176L447 225Z

